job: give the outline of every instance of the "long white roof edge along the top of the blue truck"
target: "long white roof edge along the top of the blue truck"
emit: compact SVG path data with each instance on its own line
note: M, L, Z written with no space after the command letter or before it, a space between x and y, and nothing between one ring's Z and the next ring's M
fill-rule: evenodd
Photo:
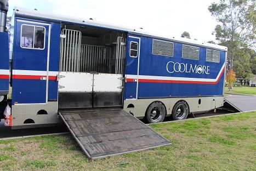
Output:
M67 16L67 15L49 14L49 13L45 13L45 12L40 12L38 10L30 10L30 9L19 8L19 7L15 7L14 13L16 15L32 16L34 18L41 18L41 19L43 18L43 19L48 19L48 20L50 19L50 20L62 21L62 22L72 22L72 23L81 24L81 25L90 25L90 26L95 26L95 27L110 28L112 30L124 31L124 32L128 32L128 33L133 33L136 35L143 35L143 36L167 39L170 41L195 44L195 45L200 45L203 47L209 47L209 48L213 48L213 49L227 51L227 47L224 47L224 46L218 45L218 44L201 42L201 41L196 41L196 40L183 38L183 37L171 37L169 35L158 35L157 33L144 32L140 28L130 28L130 27L122 26L122 25L109 24L107 22L94 21L94 20L83 19L83 18L75 18L75 17L71 17L71 16Z

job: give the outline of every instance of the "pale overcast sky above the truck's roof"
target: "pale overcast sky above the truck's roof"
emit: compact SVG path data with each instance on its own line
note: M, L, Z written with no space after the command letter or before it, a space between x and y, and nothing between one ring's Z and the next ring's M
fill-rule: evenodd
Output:
M9 0L9 13L14 7L37 9L42 12L93 18L110 24L129 28L143 27L143 31L180 37L187 31L192 39L215 41L212 35L217 21L208 11L208 6L218 0Z

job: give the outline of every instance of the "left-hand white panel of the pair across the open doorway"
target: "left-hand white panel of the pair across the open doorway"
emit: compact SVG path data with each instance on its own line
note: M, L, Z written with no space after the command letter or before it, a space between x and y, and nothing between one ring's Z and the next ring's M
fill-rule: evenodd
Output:
M59 92L92 92L93 75L90 73L81 72L60 72Z

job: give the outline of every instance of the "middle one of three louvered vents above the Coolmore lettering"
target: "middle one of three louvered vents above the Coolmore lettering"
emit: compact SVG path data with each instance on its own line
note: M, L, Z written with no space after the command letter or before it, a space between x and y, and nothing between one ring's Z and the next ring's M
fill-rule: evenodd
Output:
M192 45L183 44L182 58L198 60L199 59L199 47L194 47Z

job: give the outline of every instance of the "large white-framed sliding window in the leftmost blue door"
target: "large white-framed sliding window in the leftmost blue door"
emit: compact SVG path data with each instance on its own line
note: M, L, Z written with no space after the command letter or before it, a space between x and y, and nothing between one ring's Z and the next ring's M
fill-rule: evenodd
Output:
M20 47L26 49L44 49L45 28L21 25Z

